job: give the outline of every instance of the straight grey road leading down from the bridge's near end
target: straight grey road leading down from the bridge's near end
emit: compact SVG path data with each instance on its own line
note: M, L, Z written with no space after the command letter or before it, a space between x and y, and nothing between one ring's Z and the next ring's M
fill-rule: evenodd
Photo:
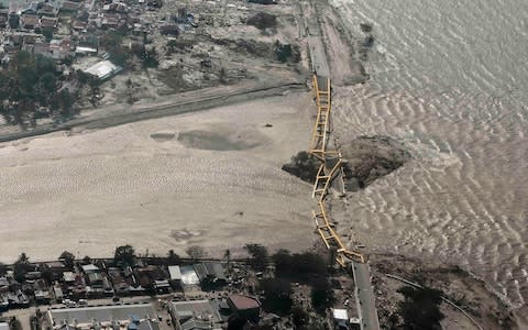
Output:
M361 329L380 329L377 319L376 301L371 285L371 272L369 264L352 263L354 279L358 287L358 302L361 316Z

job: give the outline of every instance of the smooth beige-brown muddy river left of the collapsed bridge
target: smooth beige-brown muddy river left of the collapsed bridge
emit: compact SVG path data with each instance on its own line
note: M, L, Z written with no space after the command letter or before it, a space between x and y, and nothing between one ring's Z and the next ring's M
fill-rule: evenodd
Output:
M0 144L0 260L109 255L125 243L212 255L310 245L310 187L280 170L306 148L310 101L294 94Z

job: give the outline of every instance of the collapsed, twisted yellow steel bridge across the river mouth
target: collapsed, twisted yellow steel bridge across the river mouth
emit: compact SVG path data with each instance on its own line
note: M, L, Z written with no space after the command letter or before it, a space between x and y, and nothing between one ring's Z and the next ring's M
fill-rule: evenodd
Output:
M346 260L364 263L365 256L355 251L350 251L336 231L336 226L328 216L324 197L330 189L332 180L341 173L343 160L337 141L331 141L332 122L332 94L330 78L314 75L314 94L317 105L316 122L311 134L309 153L321 161L314 183L312 198L317 199L318 210L314 211L316 230L322 238L327 249L336 249L336 261L344 266ZM333 144L332 144L333 142Z

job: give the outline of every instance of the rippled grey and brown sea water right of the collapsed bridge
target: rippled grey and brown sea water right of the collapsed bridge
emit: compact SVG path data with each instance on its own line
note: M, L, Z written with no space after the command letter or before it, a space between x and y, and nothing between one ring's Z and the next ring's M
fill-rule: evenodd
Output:
M358 231L378 250L460 264L526 318L528 2L330 2L375 35L369 84L336 89L341 144L384 134L413 155L354 195Z

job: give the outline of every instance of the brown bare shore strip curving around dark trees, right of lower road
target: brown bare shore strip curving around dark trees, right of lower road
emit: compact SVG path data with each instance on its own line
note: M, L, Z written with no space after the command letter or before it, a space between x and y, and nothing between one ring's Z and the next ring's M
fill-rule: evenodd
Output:
M458 308L468 312L483 329L521 329L515 308L484 279L457 264L430 262L427 258L391 252L372 253L370 263L374 270L373 282L376 286L378 309L382 310L384 318L394 312L395 301L400 299L396 289L406 285L393 278L393 275L396 275L441 290L446 298L454 300ZM460 312L454 309L452 311ZM447 323L444 329L453 329L455 326L450 323L452 320L448 316L449 308L443 312L446 314L443 322ZM461 324L457 327L473 329L474 324L468 319L468 328Z

